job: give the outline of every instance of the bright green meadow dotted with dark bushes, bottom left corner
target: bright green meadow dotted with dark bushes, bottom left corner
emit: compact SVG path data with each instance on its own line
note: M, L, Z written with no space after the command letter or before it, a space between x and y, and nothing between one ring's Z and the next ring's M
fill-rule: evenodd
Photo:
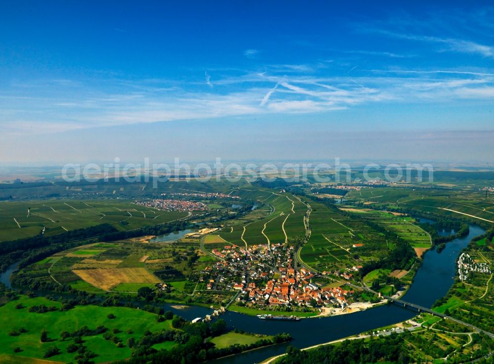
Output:
M22 303L24 308L15 309L18 303ZM157 331L170 327L170 322L156 322L156 315L142 310L135 310L125 307L100 307L100 306L76 306L69 311L53 311L47 313L29 312L29 307L44 304L46 306L60 307L57 302L49 301L45 298L27 298L22 296L19 300L12 301L0 307L0 354L13 354L15 347L20 347L22 352L18 355L42 359L47 348L56 346L62 354L51 357L50 360L58 362L70 362L74 360L77 353L67 353L67 346L73 342L72 339L62 341L60 332L72 332L82 326L94 329L99 325L104 325L110 331L118 328L122 332L116 336L123 340L125 344L129 337L139 339L145 331ZM107 318L108 314L114 314L115 319ZM25 327L26 333L19 336L9 336L11 330L19 330ZM41 343L41 330L48 332L51 341ZM127 333L131 330L132 333ZM130 332L130 331L129 331ZM84 345L88 350L98 354L95 358L97 363L125 359L130 356L131 349L126 345L118 348L111 340L105 340L102 334L94 336L84 336Z

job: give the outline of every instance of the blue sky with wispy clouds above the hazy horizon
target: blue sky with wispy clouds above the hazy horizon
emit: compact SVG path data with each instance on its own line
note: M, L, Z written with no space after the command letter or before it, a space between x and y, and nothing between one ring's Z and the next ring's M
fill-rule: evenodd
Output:
M492 162L494 8L2 1L0 163Z

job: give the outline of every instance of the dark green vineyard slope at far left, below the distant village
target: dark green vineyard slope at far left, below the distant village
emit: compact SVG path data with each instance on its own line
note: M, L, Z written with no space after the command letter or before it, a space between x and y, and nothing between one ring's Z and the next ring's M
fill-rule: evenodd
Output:
M0 242L35 236L43 228L45 236L103 223L131 230L185 216L185 212L160 211L117 200L0 202Z

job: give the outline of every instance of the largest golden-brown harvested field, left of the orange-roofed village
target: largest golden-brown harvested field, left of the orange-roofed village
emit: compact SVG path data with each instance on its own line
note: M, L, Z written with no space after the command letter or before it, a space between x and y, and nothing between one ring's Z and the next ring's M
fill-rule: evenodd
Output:
M87 283L104 290L109 290L120 283L161 282L145 268L74 269L73 272Z

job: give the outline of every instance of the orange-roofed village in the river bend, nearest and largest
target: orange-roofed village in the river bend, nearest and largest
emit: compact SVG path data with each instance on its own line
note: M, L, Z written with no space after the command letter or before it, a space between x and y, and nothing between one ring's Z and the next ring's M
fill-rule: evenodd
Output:
M294 246L285 244L247 248L234 244L215 248L212 254L221 261L206 267L203 272L206 289L238 290L237 304L253 308L283 306L312 310L323 306L348 306L354 291L339 286L323 288L314 283L315 278L321 276L305 268L295 269L294 251ZM358 270L357 267L352 269ZM351 273L341 276L350 279Z

